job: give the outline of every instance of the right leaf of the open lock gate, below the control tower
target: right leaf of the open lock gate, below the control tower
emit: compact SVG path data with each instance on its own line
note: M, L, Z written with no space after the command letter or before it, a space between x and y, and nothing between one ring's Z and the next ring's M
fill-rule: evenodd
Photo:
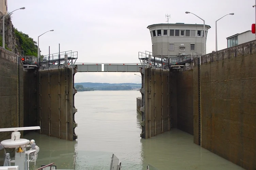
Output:
M144 67L142 73L142 138L151 138L171 128L169 70Z

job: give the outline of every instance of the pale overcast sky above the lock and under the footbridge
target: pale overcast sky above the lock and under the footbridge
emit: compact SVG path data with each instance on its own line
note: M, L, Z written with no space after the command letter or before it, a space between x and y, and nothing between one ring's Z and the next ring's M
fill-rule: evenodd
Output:
M227 48L226 37L251 30L255 23L255 0L8 0L15 28L37 41L41 54L78 51L77 63L140 63L138 52L152 51L147 26L183 22L211 26L206 51L215 50L215 21L218 50ZM137 73L140 75L140 73ZM134 73L76 73L75 82L141 83Z

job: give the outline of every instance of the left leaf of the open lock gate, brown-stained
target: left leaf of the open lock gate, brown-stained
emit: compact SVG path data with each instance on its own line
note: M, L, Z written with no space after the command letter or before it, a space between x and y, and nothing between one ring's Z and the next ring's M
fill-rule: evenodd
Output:
M75 113L74 75L76 69L51 68L40 70L38 73L38 96L39 104L37 115L41 126L41 133L61 139L74 140Z

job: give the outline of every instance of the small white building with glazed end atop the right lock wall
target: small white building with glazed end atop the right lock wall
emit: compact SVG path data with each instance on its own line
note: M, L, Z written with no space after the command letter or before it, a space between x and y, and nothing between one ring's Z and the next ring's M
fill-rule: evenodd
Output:
M237 46L249 41L255 40L255 34L251 30L245 31L240 34L235 34L227 37L227 48Z

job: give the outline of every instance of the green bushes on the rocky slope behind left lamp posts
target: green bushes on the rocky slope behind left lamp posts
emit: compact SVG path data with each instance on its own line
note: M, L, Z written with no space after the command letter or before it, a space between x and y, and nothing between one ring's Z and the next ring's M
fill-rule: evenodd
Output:
M30 38L28 34L24 34L14 28L17 44L20 45L20 50L24 51L24 55L37 56L37 45L33 38Z

